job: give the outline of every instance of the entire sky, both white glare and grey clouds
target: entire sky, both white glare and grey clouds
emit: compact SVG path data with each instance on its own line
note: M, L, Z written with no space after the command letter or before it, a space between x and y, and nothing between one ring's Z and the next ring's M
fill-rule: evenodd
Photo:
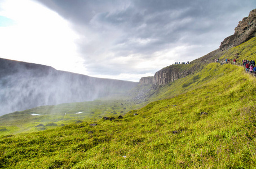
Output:
M255 0L0 0L0 57L139 81L219 48Z

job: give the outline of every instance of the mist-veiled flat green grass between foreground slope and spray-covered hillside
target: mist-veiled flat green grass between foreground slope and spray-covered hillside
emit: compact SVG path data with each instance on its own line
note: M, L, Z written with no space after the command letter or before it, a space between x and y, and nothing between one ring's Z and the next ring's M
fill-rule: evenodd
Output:
M124 99L40 106L34 109L24 110L23 112L2 115L0 117L0 130L1 128L6 130L0 131L0 135L47 130L52 128L52 126L46 126L48 123L55 123L60 127L61 124L70 124L78 120L97 120L102 117L123 115L139 106L131 100L127 101ZM76 114L78 112L82 113ZM43 124L45 127L36 127L38 124Z

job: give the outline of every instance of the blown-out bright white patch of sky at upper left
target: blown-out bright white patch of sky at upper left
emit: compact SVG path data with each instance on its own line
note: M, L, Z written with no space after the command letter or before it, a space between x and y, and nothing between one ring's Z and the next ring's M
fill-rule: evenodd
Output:
M86 74L78 35L68 21L39 3L8 0L0 8L0 57Z

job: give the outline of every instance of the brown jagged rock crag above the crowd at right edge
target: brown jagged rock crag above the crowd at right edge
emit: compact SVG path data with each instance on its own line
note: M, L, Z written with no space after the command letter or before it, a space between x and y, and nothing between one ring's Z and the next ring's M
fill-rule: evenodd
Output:
M221 50L235 47L256 36L256 9L252 10L248 17L244 17L235 28L235 33L220 44Z

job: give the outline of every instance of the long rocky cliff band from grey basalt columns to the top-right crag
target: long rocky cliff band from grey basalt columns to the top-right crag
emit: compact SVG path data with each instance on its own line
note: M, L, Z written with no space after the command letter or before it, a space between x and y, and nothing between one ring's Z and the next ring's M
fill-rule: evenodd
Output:
M221 42L219 49L210 52L196 60L191 61L188 65L171 65L155 73L153 83L155 86L164 85L173 82L179 78L186 77L201 69L204 64L213 62L215 58L221 55L221 52L228 48L235 47L248 41L256 36L256 9L252 10L248 17L244 17L235 28L235 33ZM141 84L151 84L147 78L141 79Z

